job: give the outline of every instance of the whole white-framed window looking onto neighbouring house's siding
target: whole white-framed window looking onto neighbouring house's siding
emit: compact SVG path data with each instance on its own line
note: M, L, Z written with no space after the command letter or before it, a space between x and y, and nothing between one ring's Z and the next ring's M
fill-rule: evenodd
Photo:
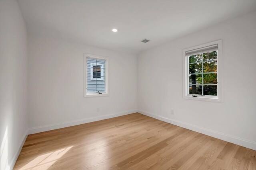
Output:
M107 58L85 54L84 61L84 97L107 96Z

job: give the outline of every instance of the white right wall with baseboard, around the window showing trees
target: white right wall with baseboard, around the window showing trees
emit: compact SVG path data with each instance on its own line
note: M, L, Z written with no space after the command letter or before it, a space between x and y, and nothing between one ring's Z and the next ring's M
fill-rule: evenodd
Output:
M224 101L183 99L182 49L218 39ZM256 12L145 51L138 58L138 110L256 150L255 54Z

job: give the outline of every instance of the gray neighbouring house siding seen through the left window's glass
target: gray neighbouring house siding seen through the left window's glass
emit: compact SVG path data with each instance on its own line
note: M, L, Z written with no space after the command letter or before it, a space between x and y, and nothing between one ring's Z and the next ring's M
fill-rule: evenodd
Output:
M87 58L87 92L105 92L105 65L104 60Z

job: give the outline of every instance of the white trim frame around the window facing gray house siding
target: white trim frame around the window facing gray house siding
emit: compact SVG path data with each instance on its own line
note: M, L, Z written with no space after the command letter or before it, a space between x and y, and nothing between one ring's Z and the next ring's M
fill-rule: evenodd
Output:
M87 58L91 59L100 59L100 60L105 60L105 93L99 94L97 92L95 93L87 93ZM109 66L109 57L104 57L100 55L93 55L93 54L88 54L84 53L84 97L100 97L100 96L109 96L109 81L108 81L108 66ZM97 64L98 65L98 64Z

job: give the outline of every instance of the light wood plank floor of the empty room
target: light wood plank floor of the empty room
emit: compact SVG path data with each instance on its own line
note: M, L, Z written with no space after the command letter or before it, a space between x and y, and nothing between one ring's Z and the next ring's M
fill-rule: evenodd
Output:
M256 151L134 113L28 135L28 169L256 170Z

